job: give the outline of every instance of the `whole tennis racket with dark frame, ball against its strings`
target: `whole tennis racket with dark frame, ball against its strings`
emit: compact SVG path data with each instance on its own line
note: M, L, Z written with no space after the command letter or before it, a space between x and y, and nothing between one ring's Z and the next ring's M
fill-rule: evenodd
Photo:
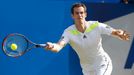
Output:
M2 50L7 56L19 57L33 48L44 48L46 44L36 44L22 34L13 33L6 36L2 43Z

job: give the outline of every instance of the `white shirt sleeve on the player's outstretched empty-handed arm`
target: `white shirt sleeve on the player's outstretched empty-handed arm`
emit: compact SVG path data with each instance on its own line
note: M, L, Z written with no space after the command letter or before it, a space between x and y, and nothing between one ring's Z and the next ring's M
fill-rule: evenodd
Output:
M112 31L114 30L111 26L104 23L99 23L99 29L101 34L107 35L111 35Z

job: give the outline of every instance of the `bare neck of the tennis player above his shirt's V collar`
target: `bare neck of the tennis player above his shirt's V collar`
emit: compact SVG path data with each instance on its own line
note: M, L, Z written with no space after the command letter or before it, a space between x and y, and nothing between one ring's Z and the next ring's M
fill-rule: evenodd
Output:
M76 28L79 32L84 33L86 30L86 21L82 21L82 22L75 22Z

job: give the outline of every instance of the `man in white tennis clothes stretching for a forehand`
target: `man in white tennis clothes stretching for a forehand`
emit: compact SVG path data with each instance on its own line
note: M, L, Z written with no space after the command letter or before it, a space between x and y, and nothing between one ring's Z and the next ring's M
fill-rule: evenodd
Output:
M129 40L129 34L98 21L86 21L86 6L82 3L74 4L71 13L75 24L65 29L58 43L47 42L45 48L59 52L69 43L80 58L84 75L110 75L112 62L102 47L101 34L116 36L121 40Z

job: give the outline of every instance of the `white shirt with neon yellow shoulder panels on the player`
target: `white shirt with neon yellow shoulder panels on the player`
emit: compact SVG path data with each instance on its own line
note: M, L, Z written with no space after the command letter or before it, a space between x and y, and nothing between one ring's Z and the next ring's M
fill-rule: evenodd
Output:
M69 26L62 34L61 40L72 46L78 54L81 64L93 64L97 57L105 54L101 34L110 35L113 28L98 21L88 21L86 26L87 29L84 33L79 32L75 25Z

